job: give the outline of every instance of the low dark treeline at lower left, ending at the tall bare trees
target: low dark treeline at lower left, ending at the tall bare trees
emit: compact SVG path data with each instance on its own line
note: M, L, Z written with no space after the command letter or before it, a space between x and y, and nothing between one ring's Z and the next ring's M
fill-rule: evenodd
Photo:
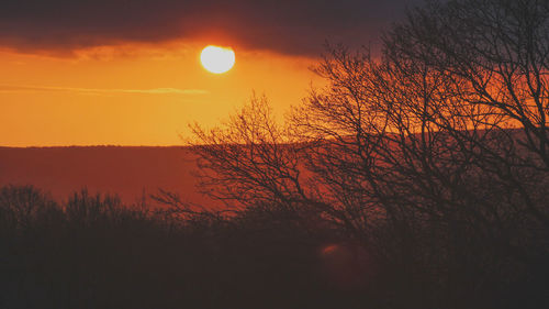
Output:
M332 279L333 272L352 262L347 251L333 246L337 233L318 229L312 234L272 216L254 210L229 218L216 212L181 216L147 203L124 206L115 197L86 190L56 202L33 187L3 187L0 307L365 304L367 295L339 288Z

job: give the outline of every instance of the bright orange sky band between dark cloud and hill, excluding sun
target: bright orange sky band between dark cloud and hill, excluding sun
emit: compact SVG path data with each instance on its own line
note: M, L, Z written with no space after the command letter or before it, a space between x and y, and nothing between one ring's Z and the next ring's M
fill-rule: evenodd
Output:
M0 51L0 145L178 145L188 123L213 125L254 90L282 114L322 85L314 58L238 46L231 71L208 73L199 63L208 44L216 42Z

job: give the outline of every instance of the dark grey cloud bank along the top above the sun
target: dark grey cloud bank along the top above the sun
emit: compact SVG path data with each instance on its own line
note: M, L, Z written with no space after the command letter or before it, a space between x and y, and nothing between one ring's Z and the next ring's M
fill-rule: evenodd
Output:
M70 51L120 42L217 38L318 54L325 40L376 43L419 0L2 0L0 45Z

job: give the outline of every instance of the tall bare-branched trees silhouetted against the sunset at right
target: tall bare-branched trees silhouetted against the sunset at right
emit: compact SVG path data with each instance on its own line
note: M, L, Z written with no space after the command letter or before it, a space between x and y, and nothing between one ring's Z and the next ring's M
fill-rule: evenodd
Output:
M414 9L380 59L328 46L328 86L287 124L254 98L194 126L204 188L335 228L397 269L408 304L503 306L511 283L547 274L548 38L545 1Z

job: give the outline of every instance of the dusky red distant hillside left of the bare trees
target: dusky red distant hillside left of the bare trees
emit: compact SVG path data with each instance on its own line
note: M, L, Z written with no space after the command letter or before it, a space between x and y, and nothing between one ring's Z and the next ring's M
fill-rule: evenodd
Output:
M194 156L176 146L0 147L0 186L30 184L56 199L87 187L134 202L143 192L163 188L194 202L211 202L197 192L192 170Z

